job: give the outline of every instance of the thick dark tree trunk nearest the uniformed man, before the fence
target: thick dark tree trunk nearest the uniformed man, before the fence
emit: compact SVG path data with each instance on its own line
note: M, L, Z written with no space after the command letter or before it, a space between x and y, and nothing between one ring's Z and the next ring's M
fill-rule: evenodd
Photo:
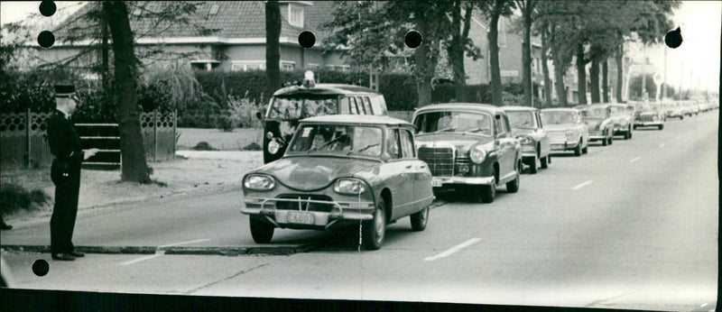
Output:
M104 2L103 13L113 39L116 75L114 89L122 161L121 180L150 183L151 179L145 163L143 136L141 136L133 32L128 21L128 9L122 1Z

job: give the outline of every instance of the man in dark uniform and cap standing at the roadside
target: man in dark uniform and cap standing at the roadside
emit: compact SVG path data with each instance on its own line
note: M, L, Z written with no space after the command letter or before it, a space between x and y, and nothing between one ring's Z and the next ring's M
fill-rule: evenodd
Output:
M55 184L55 205L51 216L51 256L54 260L71 261L84 256L73 246L72 235L78 215L80 167L97 149L82 150L80 138L69 116L77 106L75 86L57 84L56 110L48 121L48 143L53 155L51 179Z

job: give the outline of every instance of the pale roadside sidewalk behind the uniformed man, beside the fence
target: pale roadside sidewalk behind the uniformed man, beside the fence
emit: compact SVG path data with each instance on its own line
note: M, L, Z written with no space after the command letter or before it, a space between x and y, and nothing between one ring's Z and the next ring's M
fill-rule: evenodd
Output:
M174 161L149 162L151 179L161 184L141 185L121 182L120 170L83 170L80 182L79 210L116 206L154 198L194 192L240 189L246 171L261 166L263 151L177 151ZM51 216L54 186L50 169L3 170L5 183L32 190L41 188L51 196L49 204L35 211L20 211L5 216L5 222L17 226Z

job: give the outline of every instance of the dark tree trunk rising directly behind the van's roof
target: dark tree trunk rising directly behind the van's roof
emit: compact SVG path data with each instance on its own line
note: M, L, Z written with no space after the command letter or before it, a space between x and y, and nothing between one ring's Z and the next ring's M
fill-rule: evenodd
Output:
M265 3L265 77L268 97L281 88L281 9L278 0Z

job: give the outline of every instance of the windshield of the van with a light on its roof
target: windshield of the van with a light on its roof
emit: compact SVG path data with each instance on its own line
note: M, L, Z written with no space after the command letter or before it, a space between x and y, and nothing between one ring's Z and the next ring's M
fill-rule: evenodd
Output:
M302 118L338 114L337 96L332 97L273 97L269 119L298 120Z

